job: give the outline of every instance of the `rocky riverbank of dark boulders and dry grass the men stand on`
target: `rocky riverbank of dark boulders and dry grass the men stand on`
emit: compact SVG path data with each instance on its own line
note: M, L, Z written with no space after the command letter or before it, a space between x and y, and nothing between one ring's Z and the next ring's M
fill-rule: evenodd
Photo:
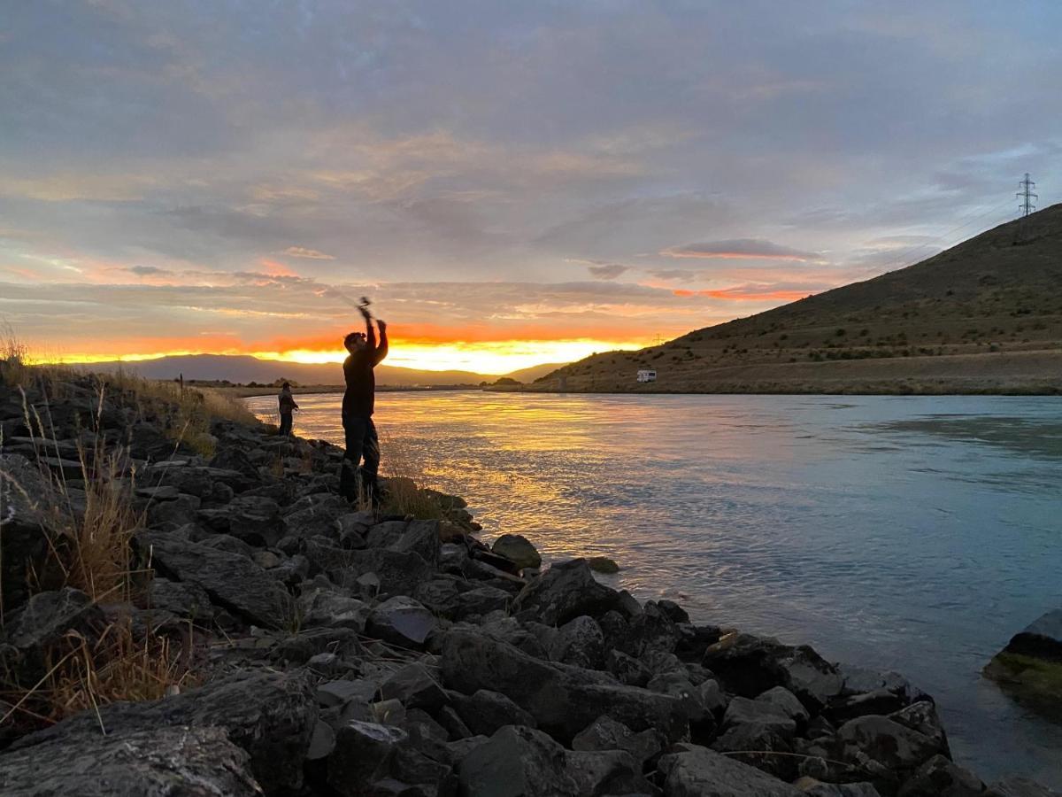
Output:
M2 389L4 795L1051 794L953 763L895 673L539 571L408 480L352 507L336 446L219 419L189 445L90 377ZM78 575L105 521L120 590Z

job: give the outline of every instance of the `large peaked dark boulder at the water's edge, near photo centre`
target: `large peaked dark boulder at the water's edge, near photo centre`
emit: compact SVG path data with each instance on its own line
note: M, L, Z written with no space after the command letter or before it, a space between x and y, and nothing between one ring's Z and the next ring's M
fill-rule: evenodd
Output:
M580 614L598 617L616 605L617 593L599 584L584 559L554 564L529 583L513 611L528 613L546 625L563 625Z

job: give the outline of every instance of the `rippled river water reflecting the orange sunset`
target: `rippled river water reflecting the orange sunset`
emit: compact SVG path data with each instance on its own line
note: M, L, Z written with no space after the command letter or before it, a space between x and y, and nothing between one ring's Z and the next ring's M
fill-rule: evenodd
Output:
M298 403L296 434L342 444L340 396ZM1062 725L979 676L1062 607L1062 401L381 393L376 422L384 471L465 496L485 536L903 672L960 762L1062 787Z

